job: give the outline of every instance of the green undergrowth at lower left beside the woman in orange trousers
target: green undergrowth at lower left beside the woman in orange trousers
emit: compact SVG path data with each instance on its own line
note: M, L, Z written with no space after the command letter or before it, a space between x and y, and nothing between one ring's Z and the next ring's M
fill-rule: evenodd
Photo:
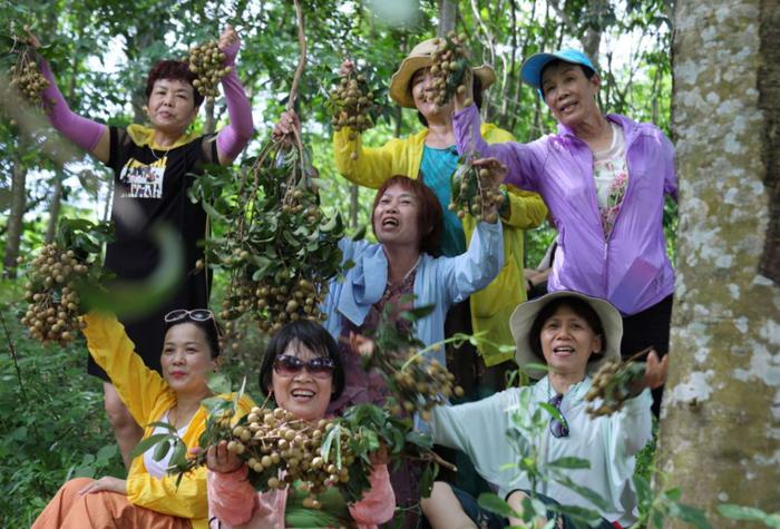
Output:
M18 322L18 287L0 285L0 526L29 527L68 479L123 477L99 380L81 340L43 347Z

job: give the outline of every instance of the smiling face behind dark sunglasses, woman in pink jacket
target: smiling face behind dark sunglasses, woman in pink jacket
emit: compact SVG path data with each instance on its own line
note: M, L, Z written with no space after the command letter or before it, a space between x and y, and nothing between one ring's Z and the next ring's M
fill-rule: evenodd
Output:
M295 356L304 363L325 356L313 352L298 340L290 342L282 354ZM276 404L299 419L322 419L331 402L333 376L314 376L306 368L291 375L281 374L274 369L270 390L273 391Z

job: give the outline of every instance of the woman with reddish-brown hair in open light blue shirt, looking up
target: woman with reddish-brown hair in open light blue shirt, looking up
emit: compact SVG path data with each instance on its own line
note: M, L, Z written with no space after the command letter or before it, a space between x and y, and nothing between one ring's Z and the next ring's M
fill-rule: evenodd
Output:
M496 172L486 185L497 188L503 177ZM438 246L441 206L420 180L393 176L384 182L374 198L371 224L379 244L341 241L344 261L354 266L342 281L331 282L324 303L325 329L338 340L344 365L344 391L331 401L328 413L332 414L354 404L381 403L389 395L383 379L361 365L360 354L350 344L352 334L372 336L387 306L392 307L396 325L426 345L437 343L445 337L448 308L487 286L504 266L500 223L478 223L465 254L431 257L429 252ZM433 312L413 326L398 317L401 311L426 305L433 305ZM446 365L443 347L426 357ZM426 428L419 417L415 419L417 428ZM420 468L408 462L390 476L400 507L393 527L417 527L419 473Z

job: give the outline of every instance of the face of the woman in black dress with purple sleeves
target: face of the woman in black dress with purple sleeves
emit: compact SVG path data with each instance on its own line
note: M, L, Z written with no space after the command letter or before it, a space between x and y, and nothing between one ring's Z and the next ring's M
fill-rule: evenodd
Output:
M157 79L146 104L152 126L182 135L197 116L195 89L181 79Z

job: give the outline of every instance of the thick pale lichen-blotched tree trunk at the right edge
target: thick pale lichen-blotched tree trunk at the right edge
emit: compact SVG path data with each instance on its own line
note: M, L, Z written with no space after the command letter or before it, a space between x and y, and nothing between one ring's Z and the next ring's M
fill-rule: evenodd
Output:
M713 527L763 527L716 506L780 511L780 285L758 272L778 178L780 0L675 9L681 259L659 466Z

